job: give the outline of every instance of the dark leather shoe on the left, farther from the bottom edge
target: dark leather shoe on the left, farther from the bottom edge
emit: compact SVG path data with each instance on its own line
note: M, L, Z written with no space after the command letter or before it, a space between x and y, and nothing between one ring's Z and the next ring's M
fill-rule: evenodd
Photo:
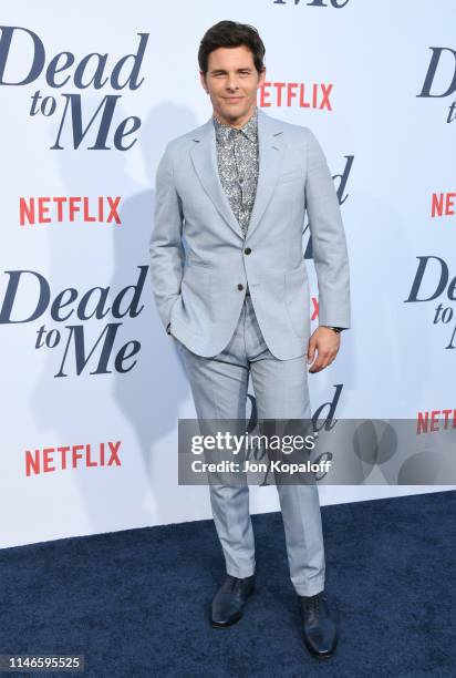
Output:
M216 593L210 610L210 623L215 628L226 628L242 616L247 598L255 588L255 575L240 579L227 575Z

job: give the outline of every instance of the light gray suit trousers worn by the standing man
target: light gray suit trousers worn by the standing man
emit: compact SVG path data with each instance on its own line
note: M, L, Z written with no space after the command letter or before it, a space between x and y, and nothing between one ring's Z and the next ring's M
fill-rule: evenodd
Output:
M173 327L170 328L173 332ZM249 372L259 419L310 419L305 356L278 360L262 337L250 295L226 348L205 358L174 341L183 358L198 419L245 419ZM317 485L278 484L291 582L298 595L324 588L324 545ZM227 573L255 572L248 485L209 485Z

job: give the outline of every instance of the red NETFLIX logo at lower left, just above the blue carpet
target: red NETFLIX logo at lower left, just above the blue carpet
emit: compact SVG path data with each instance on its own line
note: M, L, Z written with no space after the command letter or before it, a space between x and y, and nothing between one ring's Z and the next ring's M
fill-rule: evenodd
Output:
M96 444L65 445L61 448L43 448L42 450L25 450L25 475L41 475L55 471L72 469L93 469L100 466L121 466L118 450L121 441L101 442Z

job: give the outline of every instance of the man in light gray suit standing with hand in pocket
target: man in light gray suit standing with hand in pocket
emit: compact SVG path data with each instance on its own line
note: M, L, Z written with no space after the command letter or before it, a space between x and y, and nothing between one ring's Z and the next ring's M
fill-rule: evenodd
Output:
M213 114L170 141L156 176L151 273L163 327L174 338L201 419L243 419L251 376L258 417L311 417L310 372L329 366L350 327L349 261L339 202L309 127L257 107L265 45L253 27L221 21L198 61ZM305 210L319 287L310 336L302 250ZM278 484L291 582L305 646L328 657L338 641L324 589L315 484ZM226 578L214 627L240 619L253 590L248 485L210 485Z

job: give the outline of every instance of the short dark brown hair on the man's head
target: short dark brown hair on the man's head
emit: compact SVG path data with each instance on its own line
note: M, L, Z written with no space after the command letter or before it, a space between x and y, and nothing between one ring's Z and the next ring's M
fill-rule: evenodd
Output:
M231 48L241 44L251 51L255 68L260 73L265 66L265 44L255 27L237 21L219 21L206 31L198 50L199 69L206 75L210 52L220 47Z

